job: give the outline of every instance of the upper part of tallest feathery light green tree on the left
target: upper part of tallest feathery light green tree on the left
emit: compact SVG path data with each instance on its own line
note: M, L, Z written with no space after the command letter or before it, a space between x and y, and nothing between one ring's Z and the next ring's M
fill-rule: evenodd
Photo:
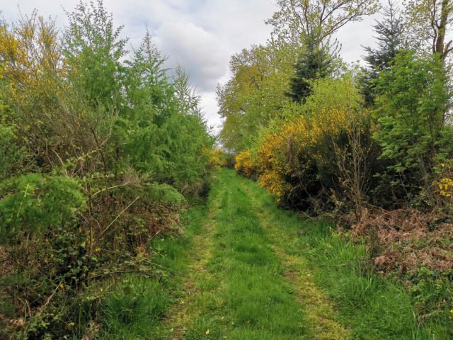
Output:
M124 69L127 39L120 38L122 26L115 28L113 16L102 0L89 5L80 1L67 12L69 26L64 33L64 56L75 81L93 107L98 104L116 111Z

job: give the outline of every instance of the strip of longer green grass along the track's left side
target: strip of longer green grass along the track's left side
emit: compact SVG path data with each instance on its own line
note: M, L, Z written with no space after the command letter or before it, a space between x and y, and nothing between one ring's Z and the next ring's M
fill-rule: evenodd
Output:
M150 244L156 278L124 276L103 300L102 339L169 339L163 327L176 302L183 296L194 238L202 232L205 205L191 208L183 216L184 233L156 237Z

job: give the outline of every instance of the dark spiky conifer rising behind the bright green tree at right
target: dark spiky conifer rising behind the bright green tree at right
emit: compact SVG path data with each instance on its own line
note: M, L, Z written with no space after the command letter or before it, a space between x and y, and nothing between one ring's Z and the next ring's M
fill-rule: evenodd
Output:
M389 1L388 6L384 8L384 19L377 21L373 27L377 33L377 49L365 47L367 52L365 62L368 69L364 70L360 78L367 106L374 104L374 82L379 77L379 72L389 70L398 51L406 45L406 28L401 13L393 1Z

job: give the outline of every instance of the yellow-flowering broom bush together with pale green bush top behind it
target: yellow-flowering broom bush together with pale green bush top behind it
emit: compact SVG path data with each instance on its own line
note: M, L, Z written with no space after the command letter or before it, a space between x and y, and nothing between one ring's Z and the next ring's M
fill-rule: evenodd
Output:
M338 184L334 146L347 145L359 102L349 79L321 79L304 105L285 106L284 120L259 142L260 186L290 208L314 208Z

